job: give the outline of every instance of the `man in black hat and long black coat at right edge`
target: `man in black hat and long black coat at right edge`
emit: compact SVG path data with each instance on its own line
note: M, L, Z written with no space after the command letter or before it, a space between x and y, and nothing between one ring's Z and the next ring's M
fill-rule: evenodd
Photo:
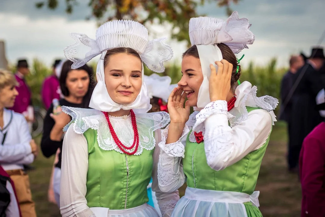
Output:
M316 96L324 88L324 81L320 73L325 56L323 49L316 47L294 76L294 83L299 82L292 95L292 111L290 117L289 170L298 167L299 153L304 138L314 129L323 118L316 109Z

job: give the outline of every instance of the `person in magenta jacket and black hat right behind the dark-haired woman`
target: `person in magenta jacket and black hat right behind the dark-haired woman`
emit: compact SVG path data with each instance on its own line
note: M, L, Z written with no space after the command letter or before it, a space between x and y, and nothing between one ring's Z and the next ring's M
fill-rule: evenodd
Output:
M58 67L61 60L55 60L52 70L53 74L46 77L43 86L42 86L42 101L45 106L45 109L47 110L50 105L52 104L53 99L60 99L59 94L59 88L60 88L60 82L59 82L59 76L60 73L56 73L56 68Z

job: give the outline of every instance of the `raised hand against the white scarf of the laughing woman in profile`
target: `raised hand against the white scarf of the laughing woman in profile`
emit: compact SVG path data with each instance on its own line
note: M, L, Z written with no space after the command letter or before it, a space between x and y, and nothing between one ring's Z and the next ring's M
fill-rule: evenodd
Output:
M230 80L233 65L227 60L215 61L218 66L216 72L213 64L210 64L211 76L209 79L209 94L211 102L226 100L230 91Z

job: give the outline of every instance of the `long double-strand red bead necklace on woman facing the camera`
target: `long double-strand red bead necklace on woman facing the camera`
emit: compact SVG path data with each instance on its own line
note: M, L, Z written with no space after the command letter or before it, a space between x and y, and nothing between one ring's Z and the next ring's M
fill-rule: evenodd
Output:
M108 127L110 129L110 133L112 134L113 140L114 142L117 144L117 147L119 147L119 149L127 155L133 155L136 153L136 151L138 150L139 147L139 133L138 133L138 128L136 126L136 115L134 114L133 110L130 110L130 114L131 114L131 121L132 121L132 127L133 127L133 131L134 131L134 141L133 144L130 147L127 147L125 145L122 144L122 142L119 140L119 138L117 138L117 135L113 129L112 124L110 123L110 117L108 115L107 112L102 112L107 120L108 123ZM128 152L127 150L131 150L134 146L136 145L136 148L133 152ZM127 149L127 150L124 150Z

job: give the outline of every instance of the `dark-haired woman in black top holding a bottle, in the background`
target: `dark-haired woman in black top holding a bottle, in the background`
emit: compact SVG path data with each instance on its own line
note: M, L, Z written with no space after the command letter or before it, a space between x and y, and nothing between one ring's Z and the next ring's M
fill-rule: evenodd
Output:
M76 108L88 108L93 84L91 77L92 69L83 65L77 69L71 69L72 61L65 61L60 75L60 88L64 98L59 100L59 105ZM51 104L44 118L43 137L41 149L45 157L55 155L62 150L63 128L71 121L71 117L61 112L59 107L53 108ZM58 151L58 152L59 152ZM59 206L60 192L60 174L61 174L61 153L59 153L58 162L55 164L53 173L53 190L56 203ZM52 181L52 179L51 179ZM50 187L51 188L51 187Z

